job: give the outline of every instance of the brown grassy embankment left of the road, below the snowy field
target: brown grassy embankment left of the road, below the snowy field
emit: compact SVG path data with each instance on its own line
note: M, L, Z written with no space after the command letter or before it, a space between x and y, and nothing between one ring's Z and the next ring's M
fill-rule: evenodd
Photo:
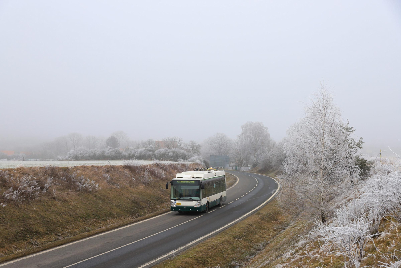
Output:
M0 262L169 211L165 183L192 168L152 164L0 170ZM18 188L26 192L12 197ZM11 194L6 198L4 192Z

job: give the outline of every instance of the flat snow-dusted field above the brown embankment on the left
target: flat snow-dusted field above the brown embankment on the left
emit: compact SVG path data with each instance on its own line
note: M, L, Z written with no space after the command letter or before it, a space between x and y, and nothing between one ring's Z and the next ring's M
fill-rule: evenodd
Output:
M148 161L148 160L140 160L140 162L143 162L144 165L146 164L152 164L154 161ZM161 161L163 164L178 164L180 162L170 162L170 161ZM59 167L66 167L67 165L69 167L72 166L105 166L105 165L122 165L123 160L94 160L94 161L0 161L0 169L2 168L17 168L19 166L23 167L43 167L47 165L52 165L52 166L59 166Z

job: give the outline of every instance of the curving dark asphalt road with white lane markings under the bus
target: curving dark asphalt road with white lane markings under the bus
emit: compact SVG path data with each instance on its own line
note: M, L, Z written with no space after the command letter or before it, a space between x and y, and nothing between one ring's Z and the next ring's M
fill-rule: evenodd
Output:
M231 171L239 182L222 207L209 213L168 212L138 223L19 258L4 268L134 268L152 265L211 237L247 217L275 194L267 176Z

